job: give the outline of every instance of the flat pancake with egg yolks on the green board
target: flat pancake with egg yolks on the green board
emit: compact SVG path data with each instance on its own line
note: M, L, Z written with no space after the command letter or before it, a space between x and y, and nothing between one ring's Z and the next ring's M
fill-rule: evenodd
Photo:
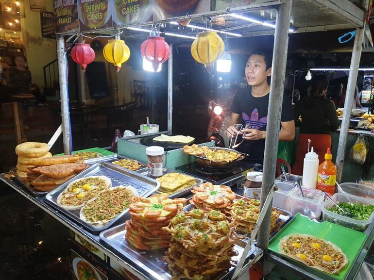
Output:
M339 272L348 259L335 244L308 234L289 234L279 240L279 252L329 274Z

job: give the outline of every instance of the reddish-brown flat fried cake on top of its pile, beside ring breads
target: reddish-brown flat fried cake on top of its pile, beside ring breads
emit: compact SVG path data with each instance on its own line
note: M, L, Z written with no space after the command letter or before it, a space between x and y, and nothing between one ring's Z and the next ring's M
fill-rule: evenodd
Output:
M65 178L73 174L77 174L85 168L87 164L83 163L73 163L73 164L57 164L57 165L47 165L47 166L37 166L30 170L35 173L44 174L52 178Z

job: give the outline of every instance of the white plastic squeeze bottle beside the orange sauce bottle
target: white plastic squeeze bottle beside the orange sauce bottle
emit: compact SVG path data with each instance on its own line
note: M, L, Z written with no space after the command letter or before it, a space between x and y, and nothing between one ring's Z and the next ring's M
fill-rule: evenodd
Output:
M303 187L307 189L315 189L317 187L318 176L318 154L314 152L313 147L310 152L305 154L303 167Z

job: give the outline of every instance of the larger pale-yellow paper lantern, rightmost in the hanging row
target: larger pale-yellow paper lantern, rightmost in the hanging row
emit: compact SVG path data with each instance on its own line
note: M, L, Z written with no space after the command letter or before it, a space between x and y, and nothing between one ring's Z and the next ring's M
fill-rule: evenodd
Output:
M197 38L191 45L192 57L204 64L208 71L213 69L213 64L220 59L224 50L223 40L214 31L197 34Z

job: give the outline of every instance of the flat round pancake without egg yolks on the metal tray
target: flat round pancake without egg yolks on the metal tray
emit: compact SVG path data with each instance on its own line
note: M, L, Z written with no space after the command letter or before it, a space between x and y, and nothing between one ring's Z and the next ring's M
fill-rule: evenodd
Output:
M80 218L89 224L102 226L126 210L131 198L137 195L136 189L132 186L105 189L96 198L87 202L81 209Z

